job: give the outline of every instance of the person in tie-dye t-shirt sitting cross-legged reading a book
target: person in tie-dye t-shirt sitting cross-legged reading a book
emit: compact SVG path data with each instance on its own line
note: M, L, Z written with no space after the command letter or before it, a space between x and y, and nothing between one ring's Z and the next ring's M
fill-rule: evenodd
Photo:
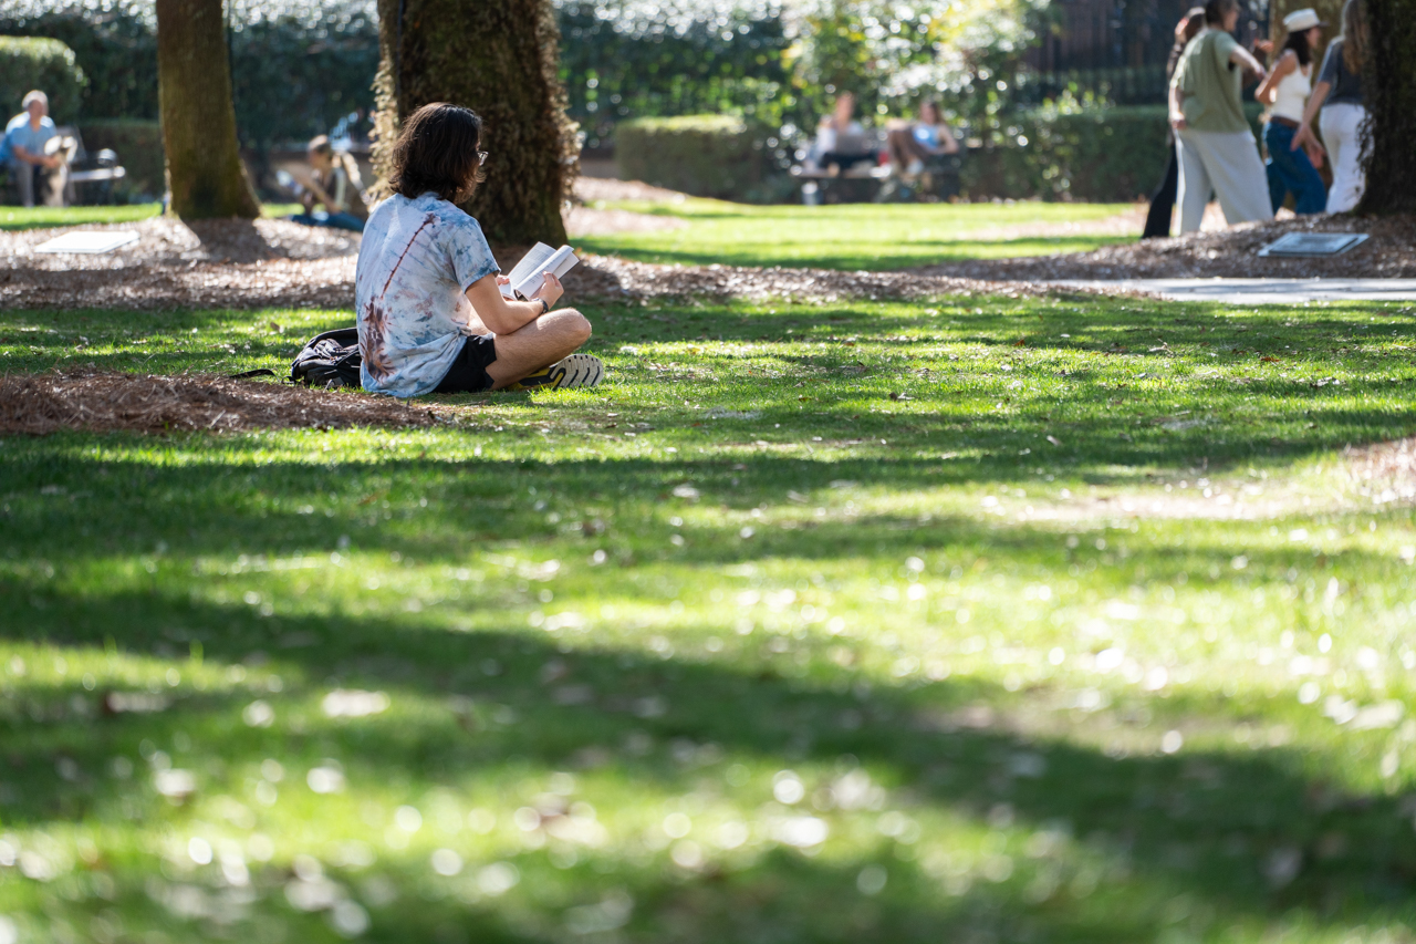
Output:
M552 310L547 274L530 300L503 298L501 269L481 227L457 208L484 179L481 119L423 105L394 143L394 196L368 217L354 275L364 390L395 397L593 387L598 357L576 354L590 323Z

